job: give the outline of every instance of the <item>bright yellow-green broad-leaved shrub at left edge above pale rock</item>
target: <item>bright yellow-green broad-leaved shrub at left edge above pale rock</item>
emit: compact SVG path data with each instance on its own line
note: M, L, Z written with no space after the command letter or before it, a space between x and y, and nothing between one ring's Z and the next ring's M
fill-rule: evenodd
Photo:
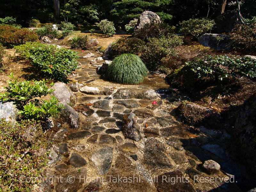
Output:
M9 100L14 99L19 107L21 116L23 118L41 118L57 115L64 107L63 104L54 96L50 100L43 100L41 97L51 94L54 90L48 88L44 80L22 81L17 78L14 79L13 74L10 76L12 80L8 81L8 86L5 93L0 93L0 99ZM39 99L38 99L39 98Z

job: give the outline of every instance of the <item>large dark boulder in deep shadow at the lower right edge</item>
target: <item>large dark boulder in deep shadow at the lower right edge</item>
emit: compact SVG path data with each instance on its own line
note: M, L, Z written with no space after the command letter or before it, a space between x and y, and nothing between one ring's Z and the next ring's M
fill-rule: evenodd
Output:
M256 171L256 93L244 104L237 115L235 124L235 137L237 138L236 146L241 148L243 159L247 164ZM239 154L240 156L241 154Z

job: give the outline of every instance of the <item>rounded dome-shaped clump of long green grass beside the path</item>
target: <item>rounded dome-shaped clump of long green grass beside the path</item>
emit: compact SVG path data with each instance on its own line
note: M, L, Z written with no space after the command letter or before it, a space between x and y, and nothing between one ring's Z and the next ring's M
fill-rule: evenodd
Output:
M137 55L124 53L113 60L104 76L117 83L140 84L147 75L148 69Z

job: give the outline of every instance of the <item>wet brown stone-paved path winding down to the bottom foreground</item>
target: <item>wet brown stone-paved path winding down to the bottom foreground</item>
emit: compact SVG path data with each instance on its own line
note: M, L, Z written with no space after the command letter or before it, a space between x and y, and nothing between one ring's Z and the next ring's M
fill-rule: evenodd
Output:
M225 152L229 135L180 123L173 109L179 99L189 99L172 90L164 74L151 72L140 85L108 82L96 71L103 60L90 64L100 55L92 52L94 57L83 58L88 52L78 51L81 66L70 77L69 86L77 97L79 128L60 121L46 176L64 179L43 183L42 191L243 191L244 169ZM130 113L136 116L138 141L125 138L122 132L123 118ZM204 161L210 159L220 164L219 173L208 175L203 169ZM232 175L238 183L194 180Z

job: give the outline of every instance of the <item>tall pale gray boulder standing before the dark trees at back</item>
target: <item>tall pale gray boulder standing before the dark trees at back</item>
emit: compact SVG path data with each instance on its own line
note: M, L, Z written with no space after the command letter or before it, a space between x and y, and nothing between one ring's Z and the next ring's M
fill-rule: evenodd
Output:
M136 29L143 28L147 23L161 23L160 17L152 11L144 11L140 14Z

